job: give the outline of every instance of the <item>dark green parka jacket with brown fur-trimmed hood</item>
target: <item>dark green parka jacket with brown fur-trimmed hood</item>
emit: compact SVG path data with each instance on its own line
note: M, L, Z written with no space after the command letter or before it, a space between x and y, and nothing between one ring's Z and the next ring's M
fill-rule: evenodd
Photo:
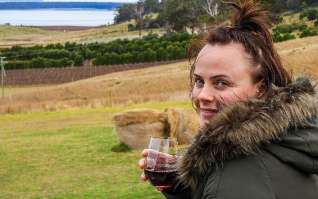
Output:
M178 161L169 199L317 199L318 90L309 76L219 108Z

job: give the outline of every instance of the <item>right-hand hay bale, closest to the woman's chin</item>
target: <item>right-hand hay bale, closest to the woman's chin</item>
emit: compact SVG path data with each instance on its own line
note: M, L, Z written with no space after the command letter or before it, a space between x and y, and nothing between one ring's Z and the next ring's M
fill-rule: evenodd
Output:
M179 145L187 144L200 127L200 118L194 110L168 107L164 114L168 136L177 138Z

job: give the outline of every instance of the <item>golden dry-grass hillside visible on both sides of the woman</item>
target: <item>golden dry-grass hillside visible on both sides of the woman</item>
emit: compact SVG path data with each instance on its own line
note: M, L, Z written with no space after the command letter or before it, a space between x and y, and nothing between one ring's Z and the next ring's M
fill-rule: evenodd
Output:
M318 77L318 36L288 40L275 46L287 69L301 74L307 68L305 73ZM6 87L5 99L0 101L0 114L183 102L189 100L188 84L188 63L184 61L44 88Z

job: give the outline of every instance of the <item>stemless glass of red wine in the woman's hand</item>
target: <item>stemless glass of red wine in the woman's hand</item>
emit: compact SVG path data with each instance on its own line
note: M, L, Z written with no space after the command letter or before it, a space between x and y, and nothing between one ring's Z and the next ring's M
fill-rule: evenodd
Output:
M171 187L176 182L176 159L179 146L176 138L152 137L144 173L155 187Z

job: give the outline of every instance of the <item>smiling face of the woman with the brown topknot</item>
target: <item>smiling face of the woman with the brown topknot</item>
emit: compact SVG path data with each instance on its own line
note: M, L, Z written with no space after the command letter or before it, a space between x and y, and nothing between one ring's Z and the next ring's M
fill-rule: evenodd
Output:
M201 126L218 114L218 101L231 103L259 95L258 84L252 83L247 70L247 56L238 44L208 44L198 54L192 97Z

